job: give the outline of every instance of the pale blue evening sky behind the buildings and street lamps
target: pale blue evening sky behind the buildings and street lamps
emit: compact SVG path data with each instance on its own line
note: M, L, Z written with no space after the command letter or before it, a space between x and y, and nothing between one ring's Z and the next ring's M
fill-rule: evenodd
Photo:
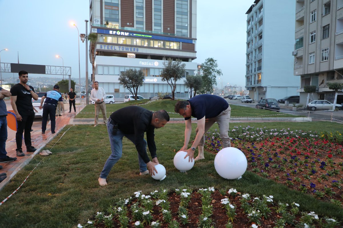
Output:
M88 0L0 0L0 50L2 63L38 64L72 68L79 77L78 40L85 33L84 20L89 20ZM203 63L212 57L223 72L223 86L245 85L246 14L253 0L216 0L212 4L198 0L197 59ZM89 25L89 24L88 24ZM88 27L89 32L89 27ZM81 77L85 77L85 43L80 41ZM89 76L91 64L88 64ZM2 73L2 77L12 77ZM15 75L17 77L17 75ZM56 77L56 76L51 76ZM62 76L57 76L62 78ZM218 87L221 87L218 79Z

